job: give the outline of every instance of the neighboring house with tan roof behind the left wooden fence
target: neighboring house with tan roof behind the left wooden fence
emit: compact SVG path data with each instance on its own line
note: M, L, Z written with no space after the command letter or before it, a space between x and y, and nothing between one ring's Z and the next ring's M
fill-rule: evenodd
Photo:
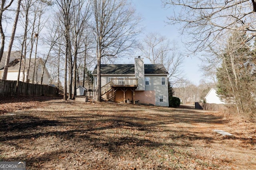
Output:
M8 65L8 73L7 73L7 80L17 80L18 78L18 69L19 69L19 64L20 64L20 51L12 51L10 54L10 61ZM0 62L0 79L2 79L3 74L4 74L4 64L6 60L6 52L4 52L2 60ZM27 75L27 70L28 70L28 60L26 59L25 63L25 70L24 70L24 57L22 57L22 63L21 63L21 70L20 70L20 81L22 81L23 77L23 72L25 75L25 82L26 82L26 75ZM34 83L36 84L41 84L41 76L42 76L42 70L44 66L44 61L42 58L37 58L36 59L36 64L34 64L34 58L31 59L30 62L30 70L29 70L29 75L28 75L28 80L30 83L32 83L32 77L33 77L33 71L34 67L35 68L35 73L34 73ZM44 68L44 76L43 76L43 81L42 84L49 84L49 79L50 79L50 74L47 70L47 68Z

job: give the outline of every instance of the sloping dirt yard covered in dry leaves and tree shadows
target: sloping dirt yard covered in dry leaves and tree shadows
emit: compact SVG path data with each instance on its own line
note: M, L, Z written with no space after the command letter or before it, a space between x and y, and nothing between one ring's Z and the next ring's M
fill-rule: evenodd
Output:
M10 101L0 102L0 161L26 161L28 170L256 169L256 125L220 113Z

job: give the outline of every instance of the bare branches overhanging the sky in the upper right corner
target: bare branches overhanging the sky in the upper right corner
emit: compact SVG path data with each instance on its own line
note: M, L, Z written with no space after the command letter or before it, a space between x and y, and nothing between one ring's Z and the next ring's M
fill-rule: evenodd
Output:
M230 30L246 31L246 42L256 35L256 3L254 0L162 0L166 7L178 6L178 14L169 16L170 24L180 24L186 47L198 52L218 46ZM242 45L241 45L242 46Z

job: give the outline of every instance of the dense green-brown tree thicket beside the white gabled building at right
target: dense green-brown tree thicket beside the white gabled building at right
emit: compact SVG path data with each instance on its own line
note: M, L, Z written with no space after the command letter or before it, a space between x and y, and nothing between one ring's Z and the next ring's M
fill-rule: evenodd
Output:
M256 111L256 51L255 43L246 42L246 39L246 33L233 31L224 52L217 56L221 58L216 72L217 93L226 103L235 104L238 114L253 120Z

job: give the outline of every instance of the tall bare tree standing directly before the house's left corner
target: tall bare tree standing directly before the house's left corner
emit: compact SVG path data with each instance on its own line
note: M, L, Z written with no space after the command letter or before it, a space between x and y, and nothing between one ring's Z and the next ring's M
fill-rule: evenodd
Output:
M101 100L100 64L103 57L111 59L136 44L136 25L140 18L126 0L90 0L93 11L93 33L96 41L96 102Z

